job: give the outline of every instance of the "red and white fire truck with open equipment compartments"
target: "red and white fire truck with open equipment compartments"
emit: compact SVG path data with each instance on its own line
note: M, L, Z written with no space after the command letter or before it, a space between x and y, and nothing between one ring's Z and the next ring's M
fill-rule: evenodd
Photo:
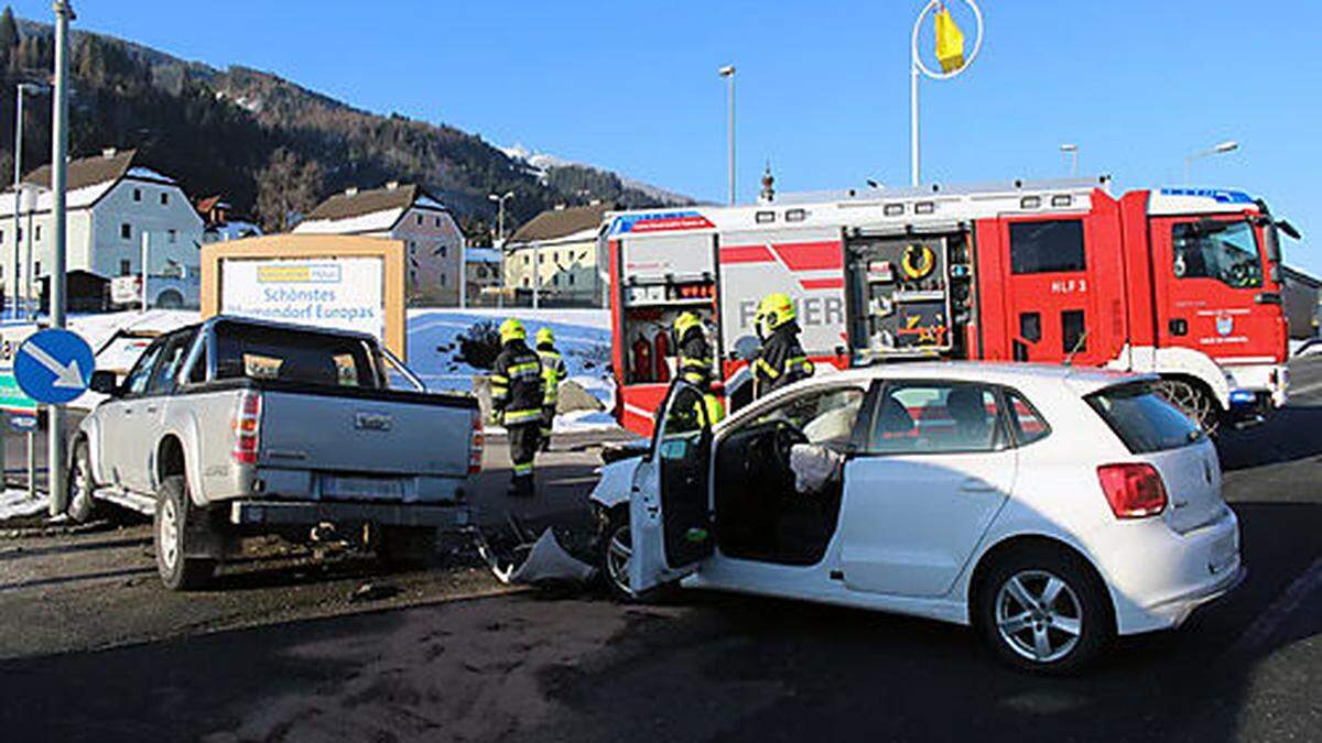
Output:
M621 423L646 434L697 312L731 407L769 292L795 299L818 373L914 358L1161 374L1206 428L1285 403L1280 231L1237 190L1108 193L1107 178L866 189L621 212L604 230Z

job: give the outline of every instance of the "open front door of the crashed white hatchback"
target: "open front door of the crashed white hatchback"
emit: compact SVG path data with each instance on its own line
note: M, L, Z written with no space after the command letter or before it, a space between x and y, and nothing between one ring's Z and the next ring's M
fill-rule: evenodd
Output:
M676 379L629 498L629 587L641 594L694 572L713 551L711 422L702 393Z

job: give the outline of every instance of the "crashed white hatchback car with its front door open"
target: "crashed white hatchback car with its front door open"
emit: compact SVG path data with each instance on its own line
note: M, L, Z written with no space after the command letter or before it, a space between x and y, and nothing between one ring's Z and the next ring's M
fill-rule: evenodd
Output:
M1212 443L1154 378L911 364L821 375L709 428L676 382L591 502L624 599L682 582L972 624L1075 669L1244 575Z

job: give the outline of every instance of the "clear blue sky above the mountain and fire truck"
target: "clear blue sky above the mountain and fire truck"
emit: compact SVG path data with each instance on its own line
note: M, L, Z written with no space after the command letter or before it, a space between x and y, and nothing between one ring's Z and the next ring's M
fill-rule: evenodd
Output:
M740 198L769 159L788 190L908 180L908 38L921 0L73 0L75 28L215 66L241 63L379 112L524 143L703 200L726 188L738 73ZM982 0L982 56L923 85L924 178L1054 177L1058 147L1116 190L1260 194L1305 231L1322 274L1322 3ZM13 3L49 20L49 0ZM965 30L972 32L965 22ZM1293 249L1293 250L1290 250Z

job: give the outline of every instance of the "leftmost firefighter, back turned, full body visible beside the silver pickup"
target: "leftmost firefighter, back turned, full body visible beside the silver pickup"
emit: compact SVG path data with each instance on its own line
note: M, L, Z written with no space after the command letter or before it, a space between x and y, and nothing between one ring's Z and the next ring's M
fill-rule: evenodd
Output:
M514 460L514 476L509 494L531 497L533 457L542 428L542 401L546 387L542 382L542 362L525 340L524 324L510 317L500 325L501 350L492 369L492 423L502 423L509 431L509 456Z

